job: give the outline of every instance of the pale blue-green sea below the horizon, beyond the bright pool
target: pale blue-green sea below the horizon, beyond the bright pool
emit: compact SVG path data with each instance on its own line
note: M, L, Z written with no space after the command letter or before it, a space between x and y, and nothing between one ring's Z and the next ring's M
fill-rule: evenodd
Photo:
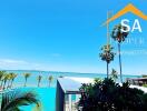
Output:
M17 78L13 81L13 87L14 88L21 88L23 87L24 83L24 77L23 73L31 73L31 75L28 78L27 81L27 87L38 87L38 75L42 75L40 87L47 88L49 87L49 75L53 77L53 80L51 82L51 87L56 88L56 82L57 79L60 77L75 77L75 78L107 78L107 74L105 73L79 73L79 72L60 72L60 71L39 71L39 70L4 70L7 72L13 72L17 73ZM122 74L124 81L126 81L127 78L139 78L141 75L136 75L136 74ZM118 74L118 82L119 80L119 74Z

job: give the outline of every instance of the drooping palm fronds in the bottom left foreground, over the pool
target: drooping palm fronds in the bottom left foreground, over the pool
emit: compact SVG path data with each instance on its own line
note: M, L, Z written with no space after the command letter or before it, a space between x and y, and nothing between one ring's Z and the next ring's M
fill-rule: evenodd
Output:
M0 111L20 111L20 107L33 103L39 103L35 92L10 91L2 94Z

